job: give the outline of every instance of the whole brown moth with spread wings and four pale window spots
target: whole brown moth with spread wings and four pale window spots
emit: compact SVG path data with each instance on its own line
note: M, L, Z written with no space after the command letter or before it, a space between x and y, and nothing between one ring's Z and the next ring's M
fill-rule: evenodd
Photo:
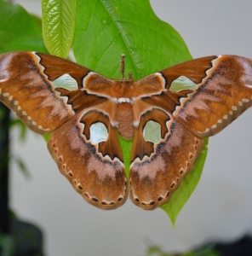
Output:
M49 152L95 207L169 201L215 135L252 104L252 61L218 55L145 79L107 79L35 52L0 55L0 100L32 130L52 132ZM133 138L129 185L117 135ZM129 192L128 192L129 190Z

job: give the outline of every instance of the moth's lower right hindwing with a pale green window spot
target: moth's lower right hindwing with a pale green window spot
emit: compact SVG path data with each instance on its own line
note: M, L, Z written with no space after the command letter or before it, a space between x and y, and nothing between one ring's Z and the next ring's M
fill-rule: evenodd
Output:
M146 131L149 125L153 128ZM192 170L203 139L158 108L141 116L134 138L129 195L136 206L152 210L168 202Z

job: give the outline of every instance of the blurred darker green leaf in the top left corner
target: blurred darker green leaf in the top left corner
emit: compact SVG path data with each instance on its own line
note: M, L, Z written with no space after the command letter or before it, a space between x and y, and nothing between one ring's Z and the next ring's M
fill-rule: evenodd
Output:
M47 52L41 20L29 15L19 4L0 0L0 54L14 50Z

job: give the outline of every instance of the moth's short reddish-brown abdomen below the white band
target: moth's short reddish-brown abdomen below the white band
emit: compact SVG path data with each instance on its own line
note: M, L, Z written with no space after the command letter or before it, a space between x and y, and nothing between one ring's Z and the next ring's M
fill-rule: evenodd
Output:
M125 139L133 137L133 108L128 102L117 104L118 133Z

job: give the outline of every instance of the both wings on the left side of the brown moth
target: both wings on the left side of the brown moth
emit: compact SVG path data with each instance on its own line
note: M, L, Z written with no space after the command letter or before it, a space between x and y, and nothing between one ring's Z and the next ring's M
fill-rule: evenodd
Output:
M97 81L101 91L111 83L52 55L0 55L1 101L32 131L53 131L49 151L86 201L103 209L117 208L126 201L128 186L117 131L110 112L103 109L112 103L87 95L83 91L87 78L94 80L92 84Z

